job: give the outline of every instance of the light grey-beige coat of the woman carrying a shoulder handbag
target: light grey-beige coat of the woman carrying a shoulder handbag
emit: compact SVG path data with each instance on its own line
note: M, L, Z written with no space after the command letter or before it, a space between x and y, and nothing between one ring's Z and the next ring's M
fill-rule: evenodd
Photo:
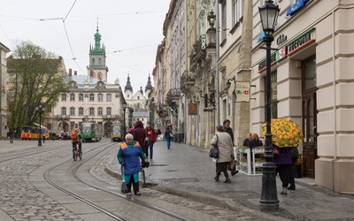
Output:
M218 147L219 147L219 158L218 163L230 162L231 155L233 153L233 141L230 134L227 132L217 132L219 137ZM212 137L211 144L216 144L217 136Z

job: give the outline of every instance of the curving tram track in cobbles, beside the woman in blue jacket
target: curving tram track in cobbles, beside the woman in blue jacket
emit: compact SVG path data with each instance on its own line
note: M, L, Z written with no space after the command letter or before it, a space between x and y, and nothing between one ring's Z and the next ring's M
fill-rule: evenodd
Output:
M114 197L118 197L120 201L123 200L123 201L125 201L125 203L129 203L129 204L133 203L133 204L135 204L135 207L136 207L136 205L139 205L139 207L144 208L142 210L146 210L146 209L154 210L158 213L165 214L166 216L168 216L170 218L173 217L176 220L191 220L191 219L189 219L189 217L183 217L179 214L174 213L173 211L165 210L165 209L160 208L156 205L153 205L148 202L140 201L140 200L135 199L133 197L127 197L125 194L119 194L116 192L112 192L111 190L108 190L107 188L98 187L97 185L93 185L93 184L89 183L88 181L81 179L80 176L78 175L78 170L81 167L85 166L85 164L89 163L89 161L91 159L93 159L95 156L103 154L104 150L110 149L112 147L112 145L115 145L115 144L108 144L108 145L102 144L102 145L96 146L93 149L85 150L83 159L81 161L78 161L76 165L71 166L70 168L65 168L65 170L70 171L70 174L73 177L73 179L75 179L77 182L79 182L80 183L79 185L81 185L82 187L83 187L83 185L86 185L87 187L94 188L97 191L101 191L105 194L109 194ZM58 189L59 191L72 196L74 199L86 204L87 206L104 213L106 216L111 217L113 220L127 220L127 217L125 217L124 214L122 214L122 212L113 211L113 210L105 208L104 206L99 205L99 203L91 202L85 196L81 196L80 194L76 194L72 190L70 190L69 188L63 187L63 185L58 184L56 181L53 180L55 178L55 174L57 173L56 170L63 170L60 168L63 165L68 164L70 161L73 161L73 159L65 160L61 164L56 164L56 165L51 166L49 169L47 169L43 173L43 179L45 179L46 182L48 182L51 187L54 187L54 188Z

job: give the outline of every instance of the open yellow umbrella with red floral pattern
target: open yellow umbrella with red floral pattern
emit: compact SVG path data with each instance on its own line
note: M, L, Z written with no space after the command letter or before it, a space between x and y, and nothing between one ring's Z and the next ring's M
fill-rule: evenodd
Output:
M261 127L266 134L266 124ZM273 118L271 121L272 142L280 148L297 147L304 138L300 126L287 118Z

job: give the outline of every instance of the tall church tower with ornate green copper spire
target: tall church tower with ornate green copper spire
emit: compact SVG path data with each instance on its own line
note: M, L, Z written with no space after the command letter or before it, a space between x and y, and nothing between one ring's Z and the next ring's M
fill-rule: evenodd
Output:
M98 22L96 28L95 46L89 45L89 66L88 75L90 78L107 82L108 67L105 65L105 47L101 47L101 34L98 32Z

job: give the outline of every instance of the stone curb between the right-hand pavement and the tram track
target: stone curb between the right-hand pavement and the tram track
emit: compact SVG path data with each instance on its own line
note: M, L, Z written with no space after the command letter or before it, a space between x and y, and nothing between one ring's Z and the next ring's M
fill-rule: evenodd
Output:
M121 174L118 171L113 171L112 168L109 166L109 164L105 164L104 171L107 174L109 174L110 176L112 176L113 178L121 179ZM142 180L140 180L140 183L142 184ZM154 184L151 188L158 190L160 192L164 192L166 194L178 195L178 196L190 199L192 201L204 202L204 203L210 204L212 206L226 208L228 210L233 210L236 212L242 212L242 213L247 214L248 216L251 215L254 217L259 217L259 218L262 218L263 220L277 220L277 221L289 220L289 219L285 219L285 218L281 218L281 217L275 217L275 216L267 214L267 213L262 213L257 210L250 210L250 209L244 208L244 206L239 205L228 198L219 197L217 195L206 194L206 193L196 192L196 191L188 191L188 190L174 188L174 187L166 187L166 186L163 186L160 184Z

